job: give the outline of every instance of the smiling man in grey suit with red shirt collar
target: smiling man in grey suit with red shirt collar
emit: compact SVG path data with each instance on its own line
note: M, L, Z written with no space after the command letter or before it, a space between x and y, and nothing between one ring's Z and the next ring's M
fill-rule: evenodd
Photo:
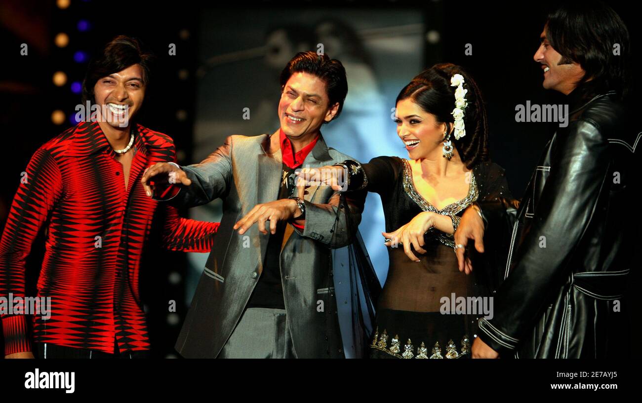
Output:
M320 132L342 110L345 69L301 52L282 71L281 86L281 128L272 135L232 135L200 164L156 164L143 176L148 195L161 199L164 187L178 206L223 200L176 344L184 357L344 357L331 249L351 242L365 193L340 198L317 185L301 199L293 178L299 167L351 159L328 148ZM177 189L160 185L167 182Z

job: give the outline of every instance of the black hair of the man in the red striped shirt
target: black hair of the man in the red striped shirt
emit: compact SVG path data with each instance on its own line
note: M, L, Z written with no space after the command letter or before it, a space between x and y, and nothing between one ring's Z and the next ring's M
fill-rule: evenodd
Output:
M101 78L117 73L130 65L139 64L143 69L143 85L150 82L150 71L155 56L148 51L141 40L119 35L111 40L101 53L92 58L87 66L87 73L82 82L82 102L87 100L92 103L94 99L94 86Z

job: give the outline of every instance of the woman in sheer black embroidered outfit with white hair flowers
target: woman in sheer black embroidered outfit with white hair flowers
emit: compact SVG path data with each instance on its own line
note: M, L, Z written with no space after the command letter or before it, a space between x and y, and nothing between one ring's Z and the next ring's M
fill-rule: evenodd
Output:
M343 190L367 189L381 196L390 265L370 357L470 357L483 305L471 314L462 297L488 296L488 287L477 270L459 271L453 233L476 201L508 194L503 169L488 159L482 96L461 67L434 65L401 90L395 121L407 160L347 160L299 175L331 169L333 175L323 181L338 190L337 178L347 172ZM469 309L462 310L465 306Z

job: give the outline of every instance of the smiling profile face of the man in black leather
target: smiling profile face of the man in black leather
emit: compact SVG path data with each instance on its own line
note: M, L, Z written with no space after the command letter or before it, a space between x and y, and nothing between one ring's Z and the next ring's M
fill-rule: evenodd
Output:
M547 90L556 90L568 95L577 87L577 83L584 76L584 70L575 62L564 63L564 57L551 46L546 39L546 26L540 35L542 44L535 52L533 59L542 64L544 72L543 87Z

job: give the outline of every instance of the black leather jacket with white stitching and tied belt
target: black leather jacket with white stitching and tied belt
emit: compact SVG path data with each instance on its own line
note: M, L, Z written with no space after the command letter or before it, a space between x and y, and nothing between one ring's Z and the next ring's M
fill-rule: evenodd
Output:
M628 341L610 330L626 322L620 302L629 270L639 270L631 207L642 133L614 92L577 98L569 95L569 124L548 142L523 200L480 204L487 234L512 231L494 317L479 322L501 357L612 356Z

